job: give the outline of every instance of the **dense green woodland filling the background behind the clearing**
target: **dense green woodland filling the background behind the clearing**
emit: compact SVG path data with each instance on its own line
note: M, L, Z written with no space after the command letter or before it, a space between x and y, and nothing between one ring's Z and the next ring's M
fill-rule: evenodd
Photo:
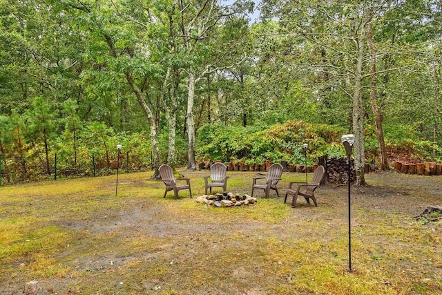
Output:
M260 19L251 21L253 9ZM6 181L60 169L442 159L442 2L0 0ZM82 172L81 172L82 171Z

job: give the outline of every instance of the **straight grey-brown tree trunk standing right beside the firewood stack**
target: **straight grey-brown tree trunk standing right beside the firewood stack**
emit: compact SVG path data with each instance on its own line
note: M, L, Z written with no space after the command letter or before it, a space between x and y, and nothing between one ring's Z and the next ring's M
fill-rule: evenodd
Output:
M365 182L365 147L364 147L364 109L362 101L362 74L365 46L365 17L361 23L356 24L356 70L354 73L353 93L353 132L354 142L354 169L356 170L356 186L367 185Z

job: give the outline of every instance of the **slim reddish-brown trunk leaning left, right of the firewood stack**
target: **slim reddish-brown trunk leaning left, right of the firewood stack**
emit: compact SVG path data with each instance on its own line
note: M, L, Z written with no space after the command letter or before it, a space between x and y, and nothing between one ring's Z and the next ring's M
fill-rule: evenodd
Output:
M381 170L387 170L387 150L385 149L384 133L382 129L382 115L378 107L378 95L376 91L376 57L374 52L374 41L372 35L372 25L367 23L367 41L370 54L370 102L372 103L372 110L374 120L376 122L376 137L378 139L379 157L381 162Z

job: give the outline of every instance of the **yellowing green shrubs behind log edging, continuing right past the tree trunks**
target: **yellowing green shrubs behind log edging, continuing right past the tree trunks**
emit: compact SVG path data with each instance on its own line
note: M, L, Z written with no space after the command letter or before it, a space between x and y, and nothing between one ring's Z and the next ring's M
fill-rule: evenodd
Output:
M348 130L340 126L295 120L271 126L206 124L198 130L196 158L201 162L220 160L262 164L269 160L273 163L285 161L289 164L305 164L307 157L307 164L311 165L323 155L327 155L328 158L345 156L345 149L340 142L340 137L345 133L348 133ZM388 136L389 133L386 132L385 135ZM416 161L432 157L434 144L431 142L403 142L389 137L386 145L390 165L394 164L398 153L402 158ZM376 168L378 142L374 126L367 126L364 140L365 162ZM302 149L302 144L305 143L308 144L307 153Z

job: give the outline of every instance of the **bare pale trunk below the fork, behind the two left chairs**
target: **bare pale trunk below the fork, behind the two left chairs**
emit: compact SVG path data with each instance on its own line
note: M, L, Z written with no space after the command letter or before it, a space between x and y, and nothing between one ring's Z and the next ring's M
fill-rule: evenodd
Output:
M195 99L195 75L189 73L189 90L187 93L187 135L189 137L189 162L187 169L196 169L195 162L195 120L193 118L193 102Z

